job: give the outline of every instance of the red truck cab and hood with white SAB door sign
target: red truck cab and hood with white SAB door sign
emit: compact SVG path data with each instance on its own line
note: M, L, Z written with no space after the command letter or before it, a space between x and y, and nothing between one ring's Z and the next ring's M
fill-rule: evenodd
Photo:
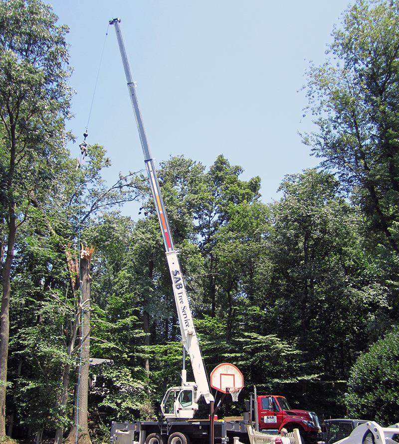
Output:
M284 396L259 395L257 397L257 423L259 430L299 429L302 441L317 443L321 428L314 412L293 410ZM255 418L256 421L256 418Z

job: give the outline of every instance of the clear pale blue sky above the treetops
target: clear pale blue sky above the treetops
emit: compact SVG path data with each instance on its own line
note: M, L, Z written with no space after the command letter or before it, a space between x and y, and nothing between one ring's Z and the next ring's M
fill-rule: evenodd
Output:
M104 145L119 171L144 168L126 78L108 21L121 19L153 157L184 154L209 167L218 154L259 175L263 202L278 199L285 174L316 166L298 132L312 131L305 69L324 62L349 0L53 0L70 28L76 95L68 129L78 157L94 88L89 144ZM108 30L108 35L106 35ZM103 54L103 55L102 55ZM101 61L102 56L102 61ZM100 67L101 61L101 67ZM99 68L100 67L100 68ZM138 209L125 208L137 219Z

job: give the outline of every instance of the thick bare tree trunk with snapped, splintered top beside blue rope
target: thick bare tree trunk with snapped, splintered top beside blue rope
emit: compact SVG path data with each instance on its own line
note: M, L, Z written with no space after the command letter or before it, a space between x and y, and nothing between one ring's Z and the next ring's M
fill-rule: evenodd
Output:
M84 250L83 250L84 251ZM78 390L75 403L76 424L69 432L69 443L91 444L88 428L88 390L89 390L89 358L90 358L90 258L80 259L80 280L82 289L82 349L80 356Z

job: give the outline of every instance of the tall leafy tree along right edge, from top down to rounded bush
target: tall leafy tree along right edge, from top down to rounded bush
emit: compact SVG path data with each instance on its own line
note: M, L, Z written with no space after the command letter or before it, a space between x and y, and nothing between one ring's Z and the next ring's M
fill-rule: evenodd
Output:
M318 128L304 142L322 158L322 166L337 173L363 213L357 223L368 263L360 268L363 290L351 290L359 301L351 313L361 319L361 306L367 307L364 321L370 329L358 330L365 344L399 318L398 8L396 1L355 1L333 30L328 60L311 64L307 72L308 110ZM342 319L337 313L335 325ZM342 361L348 368L354 358Z

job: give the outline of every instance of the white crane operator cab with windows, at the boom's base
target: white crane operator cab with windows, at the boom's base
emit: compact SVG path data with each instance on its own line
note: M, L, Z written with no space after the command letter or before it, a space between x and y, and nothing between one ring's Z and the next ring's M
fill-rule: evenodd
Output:
M198 410L196 399L196 387L171 387L166 392L161 403L161 410L165 418L192 419L194 412Z

